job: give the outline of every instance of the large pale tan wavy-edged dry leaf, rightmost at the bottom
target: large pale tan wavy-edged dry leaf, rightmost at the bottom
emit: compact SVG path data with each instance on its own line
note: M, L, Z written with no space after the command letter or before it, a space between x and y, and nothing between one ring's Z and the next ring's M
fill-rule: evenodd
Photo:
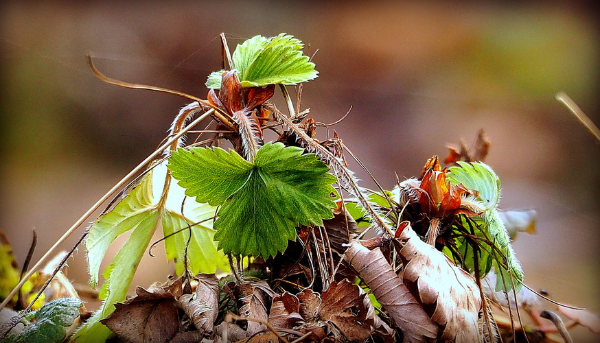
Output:
M481 294L472 276L419 239L411 226L406 226L398 239L403 244L399 253L404 263L404 285L431 320L443 327L441 339L482 342L478 324Z

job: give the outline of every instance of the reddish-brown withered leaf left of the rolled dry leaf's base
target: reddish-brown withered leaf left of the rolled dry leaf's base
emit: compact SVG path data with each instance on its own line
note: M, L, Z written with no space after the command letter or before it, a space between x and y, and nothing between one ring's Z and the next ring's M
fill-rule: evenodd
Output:
M363 300L365 292L348 279L333 282L323 292L323 302L319 307L319 317L334 322L336 327L352 342L362 342L373 331L373 318L367 318L367 308Z

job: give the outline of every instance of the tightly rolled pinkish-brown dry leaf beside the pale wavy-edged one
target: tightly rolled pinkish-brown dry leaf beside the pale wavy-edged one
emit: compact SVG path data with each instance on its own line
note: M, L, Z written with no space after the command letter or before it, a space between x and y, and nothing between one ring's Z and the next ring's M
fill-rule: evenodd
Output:
M395 274L379 248L370 251L353 239L345 258L402 330L404 342L426 342L437 337L437 325Z

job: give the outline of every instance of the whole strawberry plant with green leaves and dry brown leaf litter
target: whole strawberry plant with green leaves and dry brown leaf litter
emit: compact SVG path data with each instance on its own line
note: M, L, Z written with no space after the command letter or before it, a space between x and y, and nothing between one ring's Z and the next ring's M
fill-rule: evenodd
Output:
M106 82L193 102L141 163L146 170L87 229L90 284L102 275L104 303L71 340L497 341L487 299L494 290L482 279L494 271L495 290L516 295L524 276L498 209L500 180L483 163L488 146L478 158L453 152L443 169L434 156L392 191L361 187L349 149L337 135L316 139L317 124L286 90L318 75L303 47L288 34L246 40L229 69L209 75L207 99L119 82L91 64ZM270 102L277 85L289 115ZM184 135L208 118L214 130L186 145ZM266 141L267 130L277 139ZM126 300L159 228L176 276ZM360 240L369 230L374 237ZM126 234L101 274L108 247ZM49 331L53 341L65 338L81 302L62 303L24 315L38 326L27 322L6 342L37 342Z

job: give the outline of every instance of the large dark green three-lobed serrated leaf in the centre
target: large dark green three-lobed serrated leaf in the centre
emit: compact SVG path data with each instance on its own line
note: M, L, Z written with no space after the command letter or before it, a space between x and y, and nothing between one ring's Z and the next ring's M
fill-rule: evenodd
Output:
M263 145L254 163L218 147L179 149L169 169L187 196L220 206L214 238L226 254L275 256L295 239L296 226L323 225L336 206L329 167L282 143Z

